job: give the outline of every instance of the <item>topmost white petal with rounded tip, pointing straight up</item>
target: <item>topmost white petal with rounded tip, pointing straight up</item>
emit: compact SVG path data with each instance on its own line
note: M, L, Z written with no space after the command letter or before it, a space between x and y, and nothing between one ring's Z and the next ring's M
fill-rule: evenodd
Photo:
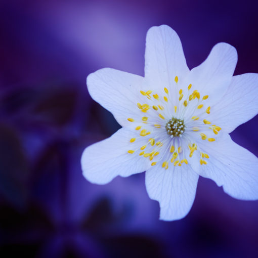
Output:
M179 82L189 69L178 34L166 25L151 27L146 37L145 77L153 87L175 86L175 77Z

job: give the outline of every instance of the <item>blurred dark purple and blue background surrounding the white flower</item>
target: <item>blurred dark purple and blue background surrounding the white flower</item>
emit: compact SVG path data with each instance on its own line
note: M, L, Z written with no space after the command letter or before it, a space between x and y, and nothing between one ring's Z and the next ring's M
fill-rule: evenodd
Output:
M179 34L190 69L225 41L235 74L257 73L257 12L248 0L1 0L1 258L258 257L258 201L201 178L188 216L162 222L144 173L98 186L80 168L83 149L119 128L90 98L89 73L144 75L146 32L161 24ZM231 134L256 156L257 124Z

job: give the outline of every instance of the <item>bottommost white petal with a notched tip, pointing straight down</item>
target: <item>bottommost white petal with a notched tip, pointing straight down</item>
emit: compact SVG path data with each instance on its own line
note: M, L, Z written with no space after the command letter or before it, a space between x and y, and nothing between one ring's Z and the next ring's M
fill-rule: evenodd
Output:
M168 169L160 164L146 171L146 188L151 199L159 201L160 219L173 221L184 218L193 205L199 176L189 165Z

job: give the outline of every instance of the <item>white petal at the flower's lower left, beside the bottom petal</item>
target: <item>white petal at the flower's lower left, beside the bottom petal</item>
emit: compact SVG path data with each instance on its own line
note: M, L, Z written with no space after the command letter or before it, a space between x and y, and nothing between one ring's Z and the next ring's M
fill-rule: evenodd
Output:
M87 147L81 157L83 176L92 183L106 184L116 176L128 177L150 167L150 161L138 153L127 153L146 144L141 137L134 143L134 132L121 128L110 138Z

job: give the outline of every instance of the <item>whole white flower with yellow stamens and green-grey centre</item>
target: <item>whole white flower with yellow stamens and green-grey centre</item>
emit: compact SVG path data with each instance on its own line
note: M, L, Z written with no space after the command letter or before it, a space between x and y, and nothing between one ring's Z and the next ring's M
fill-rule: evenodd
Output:
M233 76L236 63L235 48L219 43L190 71L177 33L150 28L145 77L104 68L87 78L122 128L84 150L84 177L106 184L146 170L147 192L167 221L189 212L199 176L234 198L258 199L258 159L229 136L257 113L258 74Z

